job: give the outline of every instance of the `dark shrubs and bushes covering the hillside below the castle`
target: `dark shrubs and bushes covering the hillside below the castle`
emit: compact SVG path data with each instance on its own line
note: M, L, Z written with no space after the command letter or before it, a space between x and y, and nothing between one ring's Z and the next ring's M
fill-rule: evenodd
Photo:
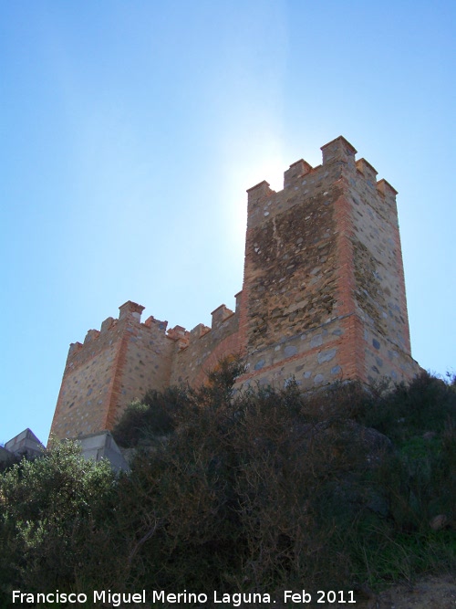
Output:
M356 589L456 568L456 383L150 392L114 436L0 474L0 590ZM0 602L2 597L0 597Z

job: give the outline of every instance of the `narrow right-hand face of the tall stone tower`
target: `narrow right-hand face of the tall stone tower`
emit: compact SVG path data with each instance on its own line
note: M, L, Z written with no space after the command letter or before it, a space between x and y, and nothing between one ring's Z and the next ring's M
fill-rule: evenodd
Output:
M394 188L376 182L364 159L350 175L356 310L364 324L366 381L393 381L419 372L410 357L409 320Z

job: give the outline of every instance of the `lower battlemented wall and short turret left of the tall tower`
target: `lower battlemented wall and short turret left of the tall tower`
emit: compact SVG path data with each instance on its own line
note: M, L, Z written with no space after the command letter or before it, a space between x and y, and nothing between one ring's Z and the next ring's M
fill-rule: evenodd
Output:
M241 301L241 293L236 302ZM238 314L221 305L212 328L192 331L167 321L140 322L144 307L128 301L119 319L89 330L83 344L71 344L58 395L51 436L85 436L112 429L133 400L170 384L203 383L219 359L239 351Z

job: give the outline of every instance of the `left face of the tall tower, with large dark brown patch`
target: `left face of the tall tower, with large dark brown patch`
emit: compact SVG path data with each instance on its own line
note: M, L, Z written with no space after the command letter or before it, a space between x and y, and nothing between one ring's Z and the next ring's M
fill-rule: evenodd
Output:
M285 172L285 188L248 191L244 292L246 379L313 386L335 380L343 328L337 310L335 167L305 161ZM303 360L306 354L306 360Z

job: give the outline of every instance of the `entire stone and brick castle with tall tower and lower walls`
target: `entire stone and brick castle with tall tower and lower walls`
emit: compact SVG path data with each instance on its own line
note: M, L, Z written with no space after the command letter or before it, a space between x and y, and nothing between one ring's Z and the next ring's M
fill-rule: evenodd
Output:
M380 377L408 381L411 358L396 191L343 137L321 165L297 161L284 189L248 193L244 284L235 310L212 312L192 331L149 317L128 301L72 343L51 434L83 436L115 425L148 389L196 386L221 358L239 353L249 383L304 390Z

